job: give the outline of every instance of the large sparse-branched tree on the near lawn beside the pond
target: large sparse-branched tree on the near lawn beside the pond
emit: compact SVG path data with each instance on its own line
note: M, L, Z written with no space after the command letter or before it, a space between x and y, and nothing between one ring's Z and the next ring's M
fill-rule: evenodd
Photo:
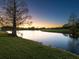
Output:
M3 21L12 25L12 35L16 36L16 26L28 18L28 8L23 0L5 0Z

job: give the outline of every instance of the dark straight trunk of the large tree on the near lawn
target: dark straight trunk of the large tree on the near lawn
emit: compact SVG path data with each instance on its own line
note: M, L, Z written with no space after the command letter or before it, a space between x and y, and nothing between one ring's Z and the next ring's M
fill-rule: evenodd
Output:
M16 35L16 2L14 0L14 8L13 8L13 28L12 28L12 35L13 36L17 36Z

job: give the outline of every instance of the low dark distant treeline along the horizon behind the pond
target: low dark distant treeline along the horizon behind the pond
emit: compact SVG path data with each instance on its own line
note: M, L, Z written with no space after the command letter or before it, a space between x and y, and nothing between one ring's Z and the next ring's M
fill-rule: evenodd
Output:
M45 27L42 27L42 28L35 28L35 27L28 27L28 28L20 28L20 27L16 27L17 30L43 30L43 29L69 29L70 26L63 26L63 27L56 27L56 28L45 28ZM79 27L78 27L79 28ZM1 27L1 30L12 30L12 27L11 26L3 26Z

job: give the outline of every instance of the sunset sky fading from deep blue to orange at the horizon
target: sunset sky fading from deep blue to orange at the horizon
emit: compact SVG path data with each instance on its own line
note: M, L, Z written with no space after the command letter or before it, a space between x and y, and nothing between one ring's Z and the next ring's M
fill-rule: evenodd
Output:
M71 13L79 16L79 0L25 0L25 2L29 15L32 16L31 26L58 27L68 22ZM28 27L26 23L23 26Z

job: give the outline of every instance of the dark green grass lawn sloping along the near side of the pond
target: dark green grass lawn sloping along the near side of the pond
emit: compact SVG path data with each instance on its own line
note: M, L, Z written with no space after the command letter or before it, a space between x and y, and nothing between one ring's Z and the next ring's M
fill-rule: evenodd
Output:
M79 59L79 57L31 40L6 35L0 36L0 59Z

